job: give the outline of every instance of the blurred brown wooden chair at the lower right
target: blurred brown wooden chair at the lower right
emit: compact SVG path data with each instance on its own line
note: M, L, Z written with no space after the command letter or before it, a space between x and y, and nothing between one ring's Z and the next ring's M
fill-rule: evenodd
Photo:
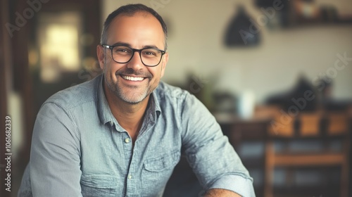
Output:
M279 121L279 117L275 118ZM279 123L278 123L279 124ZM349 151L349 129L348 115L346 113L303 113L301 112L294 120L287 122L282 130L272 132L268 128L269 136L265 147L265 197L274 196L273 174L275 167L341 167L340 173L340 196L348 196L348 151ZM327 145L331 139L341 140L341 150L331 151L323 146L321 151L292 152L289 148L277 153L275 151L275 140L289 142L294 139L314 139L322 141Z

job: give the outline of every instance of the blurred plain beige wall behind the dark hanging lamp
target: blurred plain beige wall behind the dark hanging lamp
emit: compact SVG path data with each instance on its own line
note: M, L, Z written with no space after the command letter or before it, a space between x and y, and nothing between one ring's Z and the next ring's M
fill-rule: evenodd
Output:
M352 99L352 61L334 70L337 54L346 53L352 58L352 25L312 25L289 30L260 27L260 46L227 49L222 38L237 5L244 5L254 20L263 15L253 1L104 0L101 20L115 8L132 3L156 8L168 23L170 60L163 78L166 82L184 82L188 72L204 80L210 79L210 73L218 73L215 87L234 94L251 90L260 103L271 94L294 87L301 73L313 82L328 72L334 82L333 97ZM351 1L318 3L335 4L344 15L352 13Z

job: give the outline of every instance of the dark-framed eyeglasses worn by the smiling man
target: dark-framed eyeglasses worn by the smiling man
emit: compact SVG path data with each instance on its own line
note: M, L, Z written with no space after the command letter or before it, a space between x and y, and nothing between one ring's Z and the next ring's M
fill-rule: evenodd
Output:
M120 45L109 46L107 44L101 44L101 46L111 50L111 56L113 57L113 61L116 63L127 63L131 61L134 56L134 52L137 51L142 63L149 67L158 65L161 62L161 58L166 53L161 49L151 47L144 49L132 49L129 46Z

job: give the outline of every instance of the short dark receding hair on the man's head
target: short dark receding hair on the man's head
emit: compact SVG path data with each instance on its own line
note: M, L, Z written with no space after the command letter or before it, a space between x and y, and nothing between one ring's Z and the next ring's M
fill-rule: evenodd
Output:
M153 8L149 8L148 6L144 6L143 4L128 4L126 6L121 6L120 8L110 13L103 25L103 32L101 32L100 44L106 44L108 40L108 28L110 27L111 21L113 21L113 19L116 16L121 14L132 16L137 12L150 13L156 19L158 19L159 23L161 24L161 27L163 28L163 32L165 34L165 50L166 50L167 49L166 40L168 39L168 27L166 27L166 24L163 18L161 18L161 15L159 15L156 11L154 11Z

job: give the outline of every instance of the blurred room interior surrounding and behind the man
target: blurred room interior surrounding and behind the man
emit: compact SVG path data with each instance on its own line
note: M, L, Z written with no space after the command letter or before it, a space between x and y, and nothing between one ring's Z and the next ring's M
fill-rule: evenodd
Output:
M0 196L17 196L42 103L101 73L103 21L132 3L163 16L163 81L215 115L256 196L352 195L352 1L1 0L0 126L9 115L13 154L11 193L0 162ZM165 196L197 196L184 158L175 172Z

